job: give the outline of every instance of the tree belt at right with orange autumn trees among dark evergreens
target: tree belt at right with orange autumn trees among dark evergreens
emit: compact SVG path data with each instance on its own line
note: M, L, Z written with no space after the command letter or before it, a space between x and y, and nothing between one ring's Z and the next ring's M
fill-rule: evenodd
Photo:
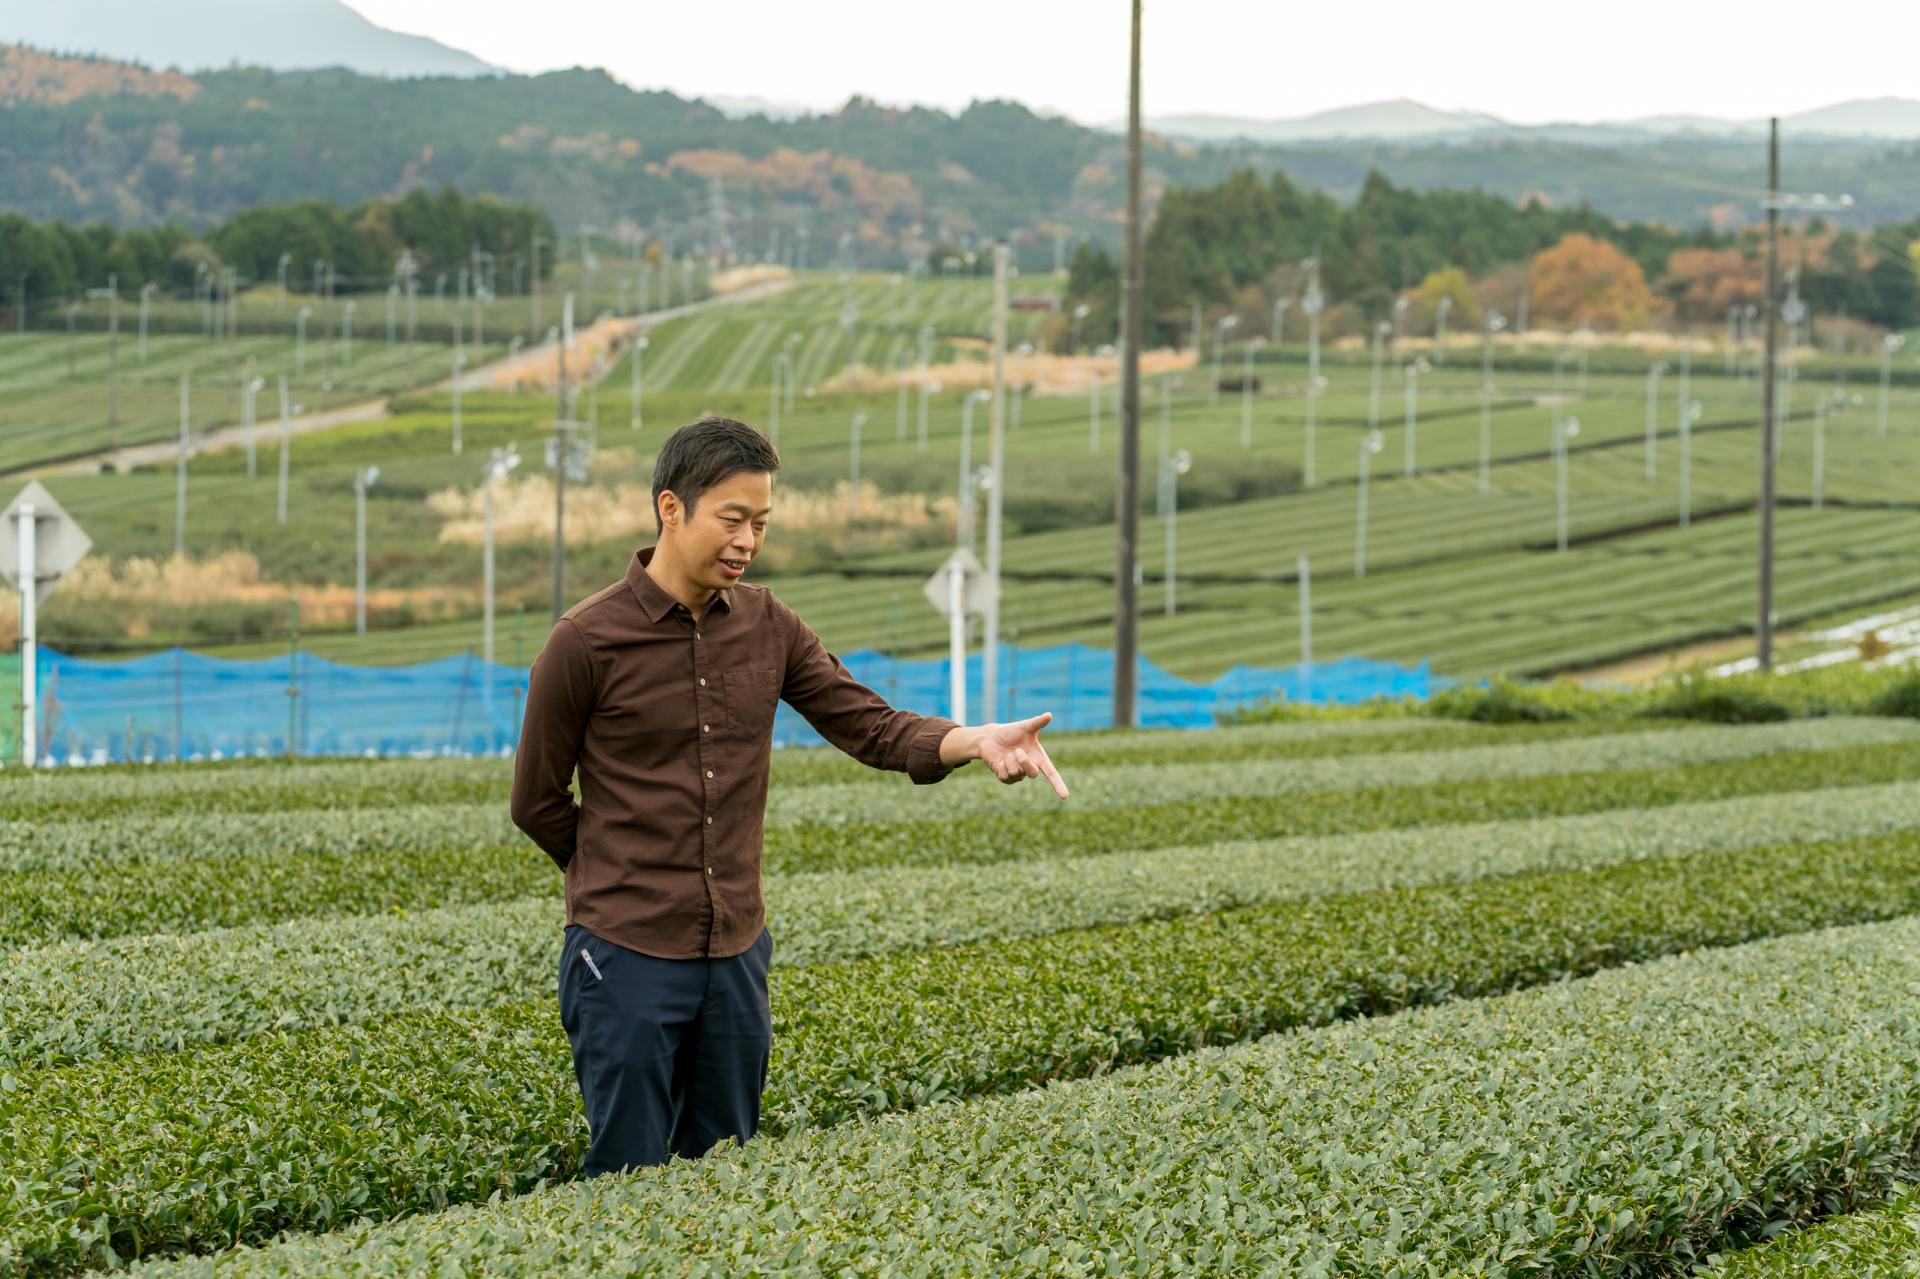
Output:
M1329 336L1363 332L1402 294L1427 311L1453 296L1465 323L1480 323L1484 305L1511 315L1526 294L1542 321L1620 328L1722 319L1728 305L1764 292L1757 230L1619 223L1590 207L1409 190L1380 173L1340 205L1284 173L1261 179L1244 169L1162 198L1146 232L1146 342L1185 342L1196 302L1258 319L1279 296L1300 292L1300 263L1315 253ZM1885 328L1920 323L1920 217L1864 236L1820 221L1795 227L1782 238L1782 267L1818 313ZM1077 246L1068 300L1089 307L1085 332L1117 330L1119 265L1106 248Z

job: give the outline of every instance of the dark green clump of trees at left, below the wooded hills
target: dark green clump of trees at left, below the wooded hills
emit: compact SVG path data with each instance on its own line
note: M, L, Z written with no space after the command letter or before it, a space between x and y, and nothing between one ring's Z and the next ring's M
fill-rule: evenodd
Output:
M282 253L290 259L290 288L311 286L313 263L324 261L336 292L384 290L403 250L432 280L465 267L474 250L495 255L495 265L524 259L534 234L553 244L553 221L538 207L451 188L417 188L353 207L328 200L261 205L204 234L173 225L33 223L0 213L0 296L12 305L25 288L27 305L36 307L102 288L109 275L127 292L152 282L184 296L202 267L232 267L242 286L276 280ZM551 257L540 263L543 277L549 267ZM511 267L499 269L503 288L509 275Z

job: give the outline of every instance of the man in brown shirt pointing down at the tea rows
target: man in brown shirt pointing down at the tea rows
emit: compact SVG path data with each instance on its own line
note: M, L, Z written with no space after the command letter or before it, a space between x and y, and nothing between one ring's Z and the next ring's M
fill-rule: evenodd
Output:
M772 591L741 584L778 471L745 422L676 430L653 467L659 542L563 613L534 661L511 808L566 872L559 1002L588 1177L758 1129L774 1037L760 830L776 701L916 784L981 759L1002 782L1044 774L1068 797L1039 743L1052 712L962 728L897 711Z

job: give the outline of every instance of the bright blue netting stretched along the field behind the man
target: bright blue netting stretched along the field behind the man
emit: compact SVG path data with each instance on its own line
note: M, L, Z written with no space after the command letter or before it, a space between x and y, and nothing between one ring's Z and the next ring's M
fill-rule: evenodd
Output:
M891 705L950 714L945 659L906 661L856 649L841 661ZM516 666L490 666L472 653L413 666L349 666L311 653L294 663L182 649L88 661L42 647L36 663L42 760L175 759L177 751L184 759L282 755L290 732L298 755L499 755L513 749L520 732L526 670ZM966 666L970 720L979 722L981 653L968 655ZM1139 720L1142 728L1210 728L1215 712L1275 693L1288 701L1352 703L1377 695L1425 697L1434 684L1425 663L1407 668L1359 657L1309 670L1235 666L1210 684L1194 684L1142 657ZM17 697L17 678L10 686ZM1054 728L1110 728L1112 688L1108 649L1085 643L1000 649L1002 720L1052 711ZM781 703L774 743L820 741ZM17 755L15 747L6 762L17 762Z

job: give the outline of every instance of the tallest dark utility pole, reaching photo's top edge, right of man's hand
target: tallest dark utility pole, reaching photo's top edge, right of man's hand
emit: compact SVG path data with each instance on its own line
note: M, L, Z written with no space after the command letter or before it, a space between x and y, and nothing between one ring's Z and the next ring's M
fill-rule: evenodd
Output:
M1114 728L1133 728L1140 526L1140 0L1133 0L1133 44L1127 60L1127 259L1119 277L1119 494L1114 568Z

